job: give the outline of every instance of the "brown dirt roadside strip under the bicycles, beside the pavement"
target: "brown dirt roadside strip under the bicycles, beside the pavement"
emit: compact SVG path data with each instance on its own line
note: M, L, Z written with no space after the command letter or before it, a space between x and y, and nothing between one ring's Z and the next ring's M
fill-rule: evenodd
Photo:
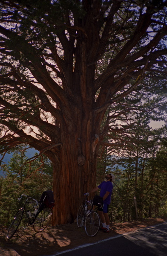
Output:
M86 235L84 228L73 224L48 227L43 233L35 233L32 227L20 228L9 241L7 230L0 227L0 256L49 256L83 244L92 244L111 236L142 229L167 221L167 218L149 218L140 221L111 223L110 232L99 230L95 237Z

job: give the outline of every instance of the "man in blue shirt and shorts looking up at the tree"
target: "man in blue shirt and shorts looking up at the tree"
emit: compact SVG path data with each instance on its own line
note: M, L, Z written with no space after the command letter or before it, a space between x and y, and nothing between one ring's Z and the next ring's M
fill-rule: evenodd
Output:
M101 230L104 232L109 232L109 215L108 215L108 209L109 204L111 202L111 195L112 195L112 189L113 184L112 181L114 181L114 175L107 174L105 176L105 181L101 182L99 186L97 186L95 189L92 189L90 192L86 193L85 195L89 195L89 193L93 193L97 191L98 189L101 189L100 196L103 198L103 208L98 209L98 214L101 218L101 222L103 227L101 227Z

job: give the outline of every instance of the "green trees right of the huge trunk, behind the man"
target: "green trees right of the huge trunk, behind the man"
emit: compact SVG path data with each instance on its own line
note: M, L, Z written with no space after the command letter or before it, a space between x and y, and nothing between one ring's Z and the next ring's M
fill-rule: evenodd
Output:
M138 119L138 123L140 125L133 126L129 137L130 149L124 150L120 157L114 153L107 155L112 150L109 149L98 160L98 177L102 177L101 173L103 178L104 173L112 172L115 175L109 206L109 216L113 222L137 218L134 197L137 199L138 218L167 214L166 127L151 130L147 119L142 122Z

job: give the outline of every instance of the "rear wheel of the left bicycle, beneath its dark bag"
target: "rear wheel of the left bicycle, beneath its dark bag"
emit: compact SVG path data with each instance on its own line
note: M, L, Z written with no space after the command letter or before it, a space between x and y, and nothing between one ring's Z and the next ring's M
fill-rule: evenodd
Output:
M43 231L51 222L52 219L52 209L44 208L35 219L33 228L35 232Z

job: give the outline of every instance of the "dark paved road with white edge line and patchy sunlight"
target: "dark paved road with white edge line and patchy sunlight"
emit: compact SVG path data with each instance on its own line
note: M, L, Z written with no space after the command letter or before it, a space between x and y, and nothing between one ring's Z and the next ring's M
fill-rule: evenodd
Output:
M100 232L100 231L99 231ZM52 256L167 256L167 222Z

